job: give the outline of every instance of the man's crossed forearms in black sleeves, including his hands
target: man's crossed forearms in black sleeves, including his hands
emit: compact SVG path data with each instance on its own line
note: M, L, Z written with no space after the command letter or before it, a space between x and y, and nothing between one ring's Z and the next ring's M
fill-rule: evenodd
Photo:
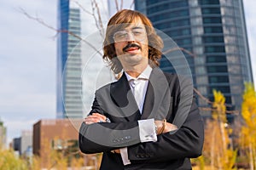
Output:
M195 105L195 104L193 104ZM129 160L169 161L201 155L203 144L203 122L197 107L193 106L183 126L176 133L167 122L156 142L141 142L138 122L104 122L106 116L95 112L84 119L79 132L79 147L84 153L96 153L127 147ZM101 111L99 111L101 112ZM102 121L102 122L100 122ZM155 121L155 123L162 122ZM145 156L139 156L145 155Z

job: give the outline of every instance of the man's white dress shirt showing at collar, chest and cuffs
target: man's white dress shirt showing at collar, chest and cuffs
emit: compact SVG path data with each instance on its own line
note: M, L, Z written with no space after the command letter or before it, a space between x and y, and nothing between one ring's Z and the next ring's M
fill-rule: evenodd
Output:
M125 72L125 76L130 84L130 88L134 98L136 99L137 106L141 114L143 113L144 100L148 88L148 80L151 74L152 68L148 65L147 68L138 76L131 77ZM141 142L156 142L157 136L154 127L154 119L138 120L139 136ZM128 159L127 148L120 149L120 154L124 165L131 164Z

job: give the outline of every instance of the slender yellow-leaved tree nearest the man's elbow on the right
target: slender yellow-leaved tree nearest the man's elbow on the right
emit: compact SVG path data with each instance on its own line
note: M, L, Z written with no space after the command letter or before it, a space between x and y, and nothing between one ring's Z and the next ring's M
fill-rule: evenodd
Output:
M207 122L203 157L211 169L234 169L236 150L233 150L226 118L225 98L221 92L213 90L212 119Z

